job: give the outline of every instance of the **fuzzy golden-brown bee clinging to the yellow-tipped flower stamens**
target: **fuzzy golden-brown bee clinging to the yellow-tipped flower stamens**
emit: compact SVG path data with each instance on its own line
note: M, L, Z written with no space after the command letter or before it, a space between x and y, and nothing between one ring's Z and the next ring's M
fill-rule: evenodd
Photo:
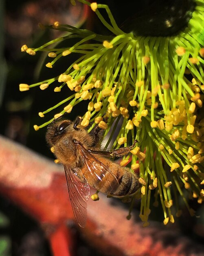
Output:
M55 119L46 132L46 141L54 146L54 154L64 164L66 181L72 209L79 226L87 219L87 201L90 186L114 197L133 195L139 188L138 176L105 157L121 157L132 146L113 151L97 150L100 128L89 134L80 126L81 118L75 121Z

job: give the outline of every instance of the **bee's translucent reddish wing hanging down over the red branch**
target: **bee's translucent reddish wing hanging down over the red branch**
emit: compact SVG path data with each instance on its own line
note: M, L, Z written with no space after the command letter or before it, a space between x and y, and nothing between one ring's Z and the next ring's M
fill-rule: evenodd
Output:
M87 219L87 201L89 198L90 187L86 180L81 181L71 168L64 165L67 180L70 202L79 226L84 227Z

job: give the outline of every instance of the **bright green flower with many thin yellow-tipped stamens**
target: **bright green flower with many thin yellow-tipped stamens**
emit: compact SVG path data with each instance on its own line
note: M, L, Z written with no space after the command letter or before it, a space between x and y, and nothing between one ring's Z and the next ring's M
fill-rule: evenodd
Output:
M44 26L70 34L37 49L24 45L22 51L31 55L47 51L53 58L46 64L49 68L61 57L69 58L68 55L75 53L81 56L59 76L32 85L21 84L20 90L34 86L44 90L58 81L55 92L73 92L56 106L40 112L40 117L59 107L56 118L64 112L70 113L79 102L88 101L81 125L90 124L90 132L98 124L105 130L104 137L112 129L105 148L119 121L122 123L113 148L138 141L138 147L131 151L131 169L139 169L140 173L140 218L144 226L149 225L152 196L154 206L159 202L162 205L165 224L169 220L174 222L173 216L181 214L178 193L193 215L188 196L197 198L198 203L204 200L201 186L204 184L204 0L190 1L193 10L185 12L186 25L178 32L171 29L171 36L139 36L134 30L125 33L117 26L107 5L78 1L91 7L112 36L59 22ZM106 10L110 22L99 9ZM173 25L171 19L166 20L166 29ZM70 38L79 40L72 47L50 48ZM52 120L34 126L35 130ZM121 165L127 164L131 156L124 157Z

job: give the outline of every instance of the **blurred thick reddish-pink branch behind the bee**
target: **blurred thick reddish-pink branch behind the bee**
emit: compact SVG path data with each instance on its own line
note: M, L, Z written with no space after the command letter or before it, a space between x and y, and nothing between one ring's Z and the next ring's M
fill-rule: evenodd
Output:
M75 244L66 223L74 216L62 166L0 137L0 193L42 225L55 256L73 255ZM143 228L140 220L126 220L127 211L112 202L101 193L98 202L89 200L88 222L80 229L104 254L203 255L204 246L179 231L155 223Z

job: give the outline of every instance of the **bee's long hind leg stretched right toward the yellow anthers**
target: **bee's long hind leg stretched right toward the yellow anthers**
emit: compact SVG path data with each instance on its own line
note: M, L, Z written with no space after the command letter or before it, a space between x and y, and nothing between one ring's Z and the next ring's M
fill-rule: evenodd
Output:
M88 151L92 154L102 155L105 157L122 157L123 155L127 155L134 148L136 142L138 142L138 141L135 140L132 146L118 148L113 151L91 150L91 149L89 149Z

